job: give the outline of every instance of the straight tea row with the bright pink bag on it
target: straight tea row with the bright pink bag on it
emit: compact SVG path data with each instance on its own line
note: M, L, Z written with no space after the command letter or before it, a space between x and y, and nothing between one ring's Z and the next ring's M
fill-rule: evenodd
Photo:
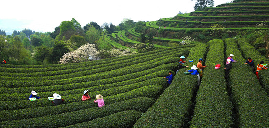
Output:
M215 69L216 64L223 64L224 43L214 39L207 53L201 85L196 96L194 115L190 128L229 128L232 124L232 104L227 94L225 71Z

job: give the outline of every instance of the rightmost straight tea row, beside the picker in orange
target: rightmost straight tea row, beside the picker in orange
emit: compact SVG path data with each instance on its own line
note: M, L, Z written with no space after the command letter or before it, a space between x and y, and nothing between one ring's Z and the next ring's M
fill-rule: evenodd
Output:
M260 64L260 61L264 61L264 64L269 64L268 59L255 50L255 48L248 43L246 38L239 38L237 43L242 51L242 54L245 56L245 59L247 60L248 57L251 57L251 59L254 61L254 66L256 69L257 65ZM264 89L267 91L267 93L269 93L269 71L259 71L259 76Z

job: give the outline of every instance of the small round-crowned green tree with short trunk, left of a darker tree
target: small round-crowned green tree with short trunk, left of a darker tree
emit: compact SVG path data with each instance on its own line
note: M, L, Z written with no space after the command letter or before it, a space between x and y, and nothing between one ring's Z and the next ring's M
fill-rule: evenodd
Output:
M49 57L50 49L47 46L40 46L34 49L34 58L37 61L42 62L44 64L44 60Z

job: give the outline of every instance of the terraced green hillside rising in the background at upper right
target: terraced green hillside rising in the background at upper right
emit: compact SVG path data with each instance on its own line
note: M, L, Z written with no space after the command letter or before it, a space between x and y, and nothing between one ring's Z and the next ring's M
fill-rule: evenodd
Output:
M195 39L196 42L191 43L200 43L214 38L240 37L253 31L269 30L268 26L269 0L234 0L217 7L146 22L144 26L136 26L114 35L120 39L120 44L130 47L140 43L140 35L144 33L153 36L153 42L158 44L156 47L160 47L169 46L167 43L170 41L181 43L186 36ZM215 32L218 27L223 28L222 32Z

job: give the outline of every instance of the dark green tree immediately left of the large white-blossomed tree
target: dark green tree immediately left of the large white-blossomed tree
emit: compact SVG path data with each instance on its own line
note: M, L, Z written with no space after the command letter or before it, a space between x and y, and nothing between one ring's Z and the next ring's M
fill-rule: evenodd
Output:
M68 49L68 47L65 45L65 43L63 41L56 41L54 43L54 47L52 49L50 61L53 64L57 64L57 62L60 60L60 58L64 54L66 54L67 52L69 52L69 51L70 50Z

